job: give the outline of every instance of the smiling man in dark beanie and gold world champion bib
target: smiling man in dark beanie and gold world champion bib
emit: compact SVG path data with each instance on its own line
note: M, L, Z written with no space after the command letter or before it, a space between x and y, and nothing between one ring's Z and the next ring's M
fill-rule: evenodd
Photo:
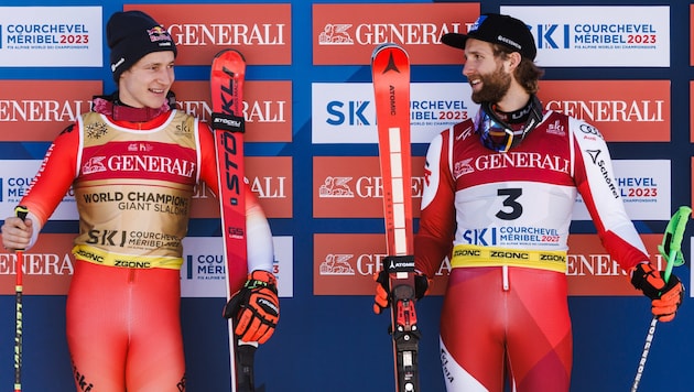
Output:
M140 11L116 12L106 34L118 90L95 97L94 111L55 139L20 203L26 219L7 218L2 242L30 249L72 186L79 233L66 331L77 390L184 391L182 240L195 187L218 190L213 134L173 107L177 52L160 23ZM248 185L245 194L248 279L267 287L264 301L279 309L270 227ZM279 312L254 312L253 295L241 308L253 309L257 331L249 335L262 342Z

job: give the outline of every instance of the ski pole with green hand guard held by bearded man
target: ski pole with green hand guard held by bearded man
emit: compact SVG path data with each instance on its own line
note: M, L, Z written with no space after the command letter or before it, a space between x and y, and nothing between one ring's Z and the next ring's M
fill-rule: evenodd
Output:
M663 236L662 244L658 246L660 253L668 260L665 272L663 273L663 281L668 284L670 275L672 274L672 268L684 264L684 257L682 255L682 238L686 228L686 222L692 214L692 208L681 206L677 211L672 216L668 227L665 228L665 235ZM655 326L658 325L658 317L653 316L651 325L648 328L646 336L646 344L643 345L643 352L641 352L641 360L637 368L637 374L631 384L631 392L636 392L639 389L639 382L643 375L643 369L646 368L646 360L653 342L653 336L655 335Z

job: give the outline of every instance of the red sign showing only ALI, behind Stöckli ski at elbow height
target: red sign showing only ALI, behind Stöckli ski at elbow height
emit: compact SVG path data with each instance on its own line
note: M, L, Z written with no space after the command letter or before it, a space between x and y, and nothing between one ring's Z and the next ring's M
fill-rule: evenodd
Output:
M246 156L246 178L268 218L291 218L293 177L291 156ZM191 218L219 218L219 199L206 184L193 195Z

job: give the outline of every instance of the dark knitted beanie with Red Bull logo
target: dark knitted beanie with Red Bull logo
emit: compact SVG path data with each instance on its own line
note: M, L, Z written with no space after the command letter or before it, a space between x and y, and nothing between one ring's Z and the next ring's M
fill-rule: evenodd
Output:
M111 73L116 84L123 70L152 52L177 54L169 32L142 11L113 13L106 24L106 41L111 50Z

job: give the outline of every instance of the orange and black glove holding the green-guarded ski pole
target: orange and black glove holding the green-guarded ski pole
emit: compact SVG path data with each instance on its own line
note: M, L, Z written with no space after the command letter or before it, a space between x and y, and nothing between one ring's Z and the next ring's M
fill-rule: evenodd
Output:
M660 322L670 322L677 313L684 298L684 285L674 274L668 284L649 263L641 263L631 269L631 284L651 298L651 312Z

